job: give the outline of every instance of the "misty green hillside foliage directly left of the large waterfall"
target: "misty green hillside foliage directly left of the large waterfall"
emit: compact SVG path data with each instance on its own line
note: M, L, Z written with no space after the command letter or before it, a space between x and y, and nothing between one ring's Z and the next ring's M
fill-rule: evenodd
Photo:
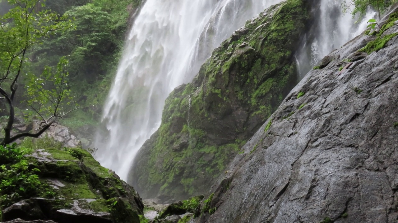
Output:
M65 120L68 127L93 125L113 81L123 51L128 17L141 0L47 0L49 8L71 20L75 29L56 35L29 54L32 70L41 72L68 55L70 89L82 112ZM82 115L82 113L85 113Z

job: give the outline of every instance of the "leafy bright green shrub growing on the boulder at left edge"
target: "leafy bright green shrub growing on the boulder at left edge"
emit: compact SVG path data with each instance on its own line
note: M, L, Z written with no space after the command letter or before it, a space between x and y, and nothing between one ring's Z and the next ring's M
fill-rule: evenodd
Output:
M23 159L26 151L16 148L16 144L0 145L0 200L1 207L6 207L20 198L29 198L36 194L41 185L37 168L30 168Z

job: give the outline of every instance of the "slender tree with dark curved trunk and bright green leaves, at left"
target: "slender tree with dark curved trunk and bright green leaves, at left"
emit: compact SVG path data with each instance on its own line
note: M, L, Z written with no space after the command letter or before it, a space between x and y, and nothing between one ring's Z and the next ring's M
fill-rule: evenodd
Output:
M71 28L70 21L47 10L40 11L40 0L8 0L13 6L0 17L0 101L8 107L9 117L0 145L10 144L22 137L39 137L60 118L77 109L70 97L64 72L68 64L61 58L55 68L45 67L41 75L29 72L29 49L41 44L50 35ZM33 132L12 135L18 84L25 86L24 113L30 121L38 123ZM6 90L9 88L9 90ZM20 106L21 104L18 104Z

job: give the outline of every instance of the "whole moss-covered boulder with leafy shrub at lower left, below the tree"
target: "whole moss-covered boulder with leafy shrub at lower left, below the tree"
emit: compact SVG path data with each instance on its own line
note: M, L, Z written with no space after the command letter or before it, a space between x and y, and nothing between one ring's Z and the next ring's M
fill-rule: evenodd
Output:
M133 187L81 148L48 138L0 148L0 220L139 223Z

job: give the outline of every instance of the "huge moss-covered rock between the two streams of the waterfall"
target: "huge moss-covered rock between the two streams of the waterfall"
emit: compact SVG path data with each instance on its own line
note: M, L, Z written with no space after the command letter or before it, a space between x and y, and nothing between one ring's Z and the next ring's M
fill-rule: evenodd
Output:
M194 80L166 100L129 183L144 198L203 193L297 84L294 54L310 1L271 6L215 49Z

